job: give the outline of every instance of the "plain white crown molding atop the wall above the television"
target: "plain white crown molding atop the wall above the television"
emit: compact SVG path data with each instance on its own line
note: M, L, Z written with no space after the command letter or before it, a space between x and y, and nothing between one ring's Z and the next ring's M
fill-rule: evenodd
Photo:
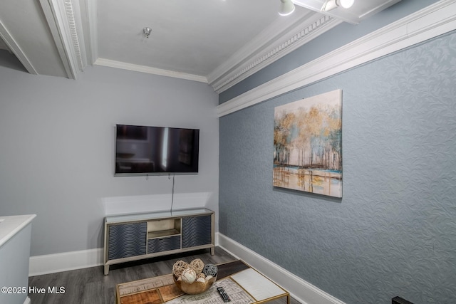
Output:
M174 72L172 70L162 70L160 68L151 68L151 67L148 67L145 65L136 65L136 64L125 63L125 62L121 62L121 61L112 61L110 59L105 59L105 58L98 58L95 61L95 63L93 63L93 64L108 66L110 68L120 68L123 70L134 70L135 72L193 80L193 81L198 81L200 83L207 83L207 78L205 78L203 76L199 76L199 75Z

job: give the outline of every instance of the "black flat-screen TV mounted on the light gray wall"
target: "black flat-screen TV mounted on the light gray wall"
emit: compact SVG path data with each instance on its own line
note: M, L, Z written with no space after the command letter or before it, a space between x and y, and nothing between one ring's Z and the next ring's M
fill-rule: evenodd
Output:
M115 175L197 173L199 130L115 126Z

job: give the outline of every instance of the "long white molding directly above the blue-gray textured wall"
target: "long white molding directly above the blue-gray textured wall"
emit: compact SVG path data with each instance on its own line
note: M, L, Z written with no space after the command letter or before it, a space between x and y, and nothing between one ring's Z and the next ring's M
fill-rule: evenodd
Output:
M222 117L349 68L456 30L456 0L441 0L414 14L301 65L217 106Z

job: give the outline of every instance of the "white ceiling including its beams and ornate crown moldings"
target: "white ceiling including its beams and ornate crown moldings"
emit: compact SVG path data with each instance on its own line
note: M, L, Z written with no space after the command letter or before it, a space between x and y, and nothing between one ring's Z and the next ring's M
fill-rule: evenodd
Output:
M0 50L32 74L77 79L88 65L106 65L220 93L339 23L398 1L358 0L322 13L325 0L294 0L289 16L278 14L280 0L0 1Z

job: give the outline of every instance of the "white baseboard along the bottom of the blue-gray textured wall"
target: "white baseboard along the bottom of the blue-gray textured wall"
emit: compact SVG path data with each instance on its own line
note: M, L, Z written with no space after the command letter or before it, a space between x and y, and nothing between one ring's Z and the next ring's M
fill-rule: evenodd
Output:
M291 296L303 304L345 304L311 283L260 256L258 253L237 243L224 234L217 233L217 244L225 251L242 259L272 281L289 291Z

